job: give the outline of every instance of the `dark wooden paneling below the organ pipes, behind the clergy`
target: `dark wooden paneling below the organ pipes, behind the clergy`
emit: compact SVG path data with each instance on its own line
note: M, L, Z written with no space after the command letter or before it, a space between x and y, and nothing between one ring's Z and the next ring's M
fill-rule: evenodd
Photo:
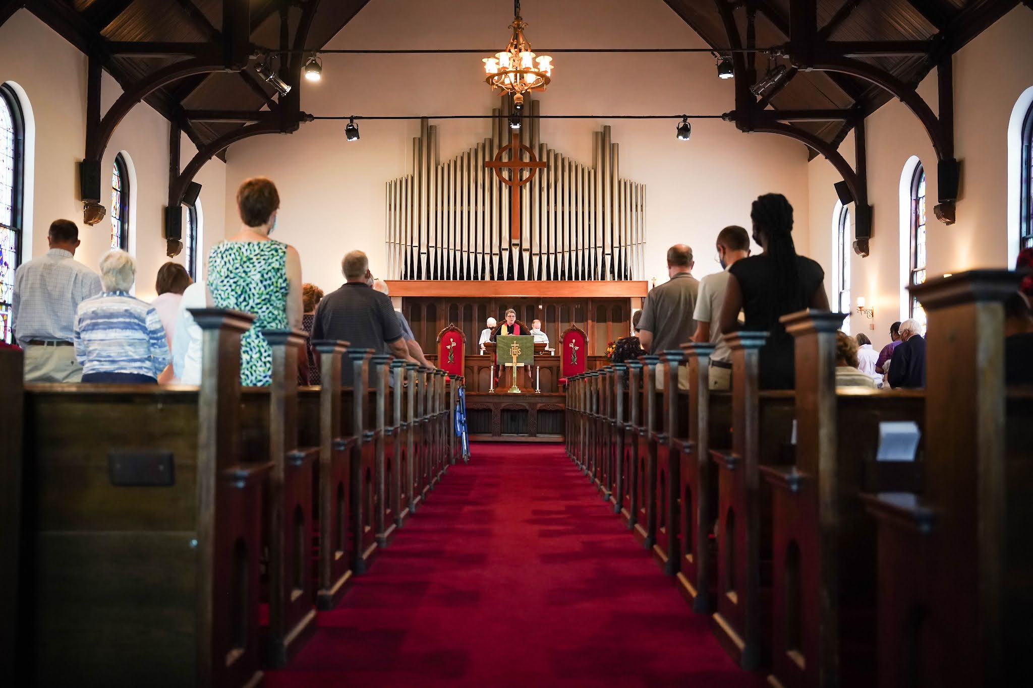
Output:
M413 283L396 283L411 285ZM440 283L427 283L440 284ZM491 283L488 283L491 284ZM506 283L512 285L512 283ZM551 283L558 285L560 283ZM623 283L627 284L627 283ZM644 283L645 284L645 283ZM480 285L478 293L482 290ZM477 298L441 297L433 295L403 296L402 313L412 327L413 336L428 355L437 351L438 332L453 324L466 335L466 355L475 356L484 321L493 317L502 321L506 308L516 312L516 319L531 325L538 319L555 348L560 334L576 325L589 335L589 355L602 356L606 343L626 336L631 327L631 299L628 297L566 298L502 296L483 294Z

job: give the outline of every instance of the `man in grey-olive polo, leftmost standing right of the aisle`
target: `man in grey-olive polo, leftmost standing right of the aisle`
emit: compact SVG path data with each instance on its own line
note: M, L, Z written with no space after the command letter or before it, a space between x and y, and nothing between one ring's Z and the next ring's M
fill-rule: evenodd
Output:
M692 340L696 322L692 313L696 307L699 282L692 276L692 249L678 243L667 249L666 283L654 287L646 297L643 319L638 321L638 341L650 354L668 349L680 349ZM679 389L689 389L689 369L681 366L678 374ZM657 372L657 388L662 389L662 374Z

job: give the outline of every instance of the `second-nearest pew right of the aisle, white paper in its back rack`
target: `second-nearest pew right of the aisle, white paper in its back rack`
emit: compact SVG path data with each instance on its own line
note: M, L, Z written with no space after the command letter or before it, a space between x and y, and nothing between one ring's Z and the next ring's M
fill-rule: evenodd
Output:
M925 394L837 389L843 315L803 310L782 322L795 338L796 461L761 466L774 487L770 682L877 685L876 533L859 493L917 489L920 463L876 458L879 424L920 429Z

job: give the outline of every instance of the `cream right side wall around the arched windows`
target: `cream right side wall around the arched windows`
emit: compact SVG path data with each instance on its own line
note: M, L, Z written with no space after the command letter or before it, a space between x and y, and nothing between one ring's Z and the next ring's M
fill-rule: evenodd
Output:
M1007 130L1012 107L1033 86L1033 11L1020 5L973 39L953 57L954 149L962 185L957 222L936 220L936 157L918 120L893 100L867 122L868 193L873 205L871 255L853 256L851 296L864 296L875 308L874 321L852 317L851 331L866 332L876 347L888 340L889 325L900 320L900 181L908 158L918 156L926 169L928 201L928 273L930 276L975 267L1005 267L1007 245ZM936 72L918 93L938 110ZM853 136L841 151L853 162ZM832 267L831 217L836 204L833 184L840 179L823 159L809 164L811 256ZM1011 266L1009 266L1011 267ZM829 285L826 285L828 288Z

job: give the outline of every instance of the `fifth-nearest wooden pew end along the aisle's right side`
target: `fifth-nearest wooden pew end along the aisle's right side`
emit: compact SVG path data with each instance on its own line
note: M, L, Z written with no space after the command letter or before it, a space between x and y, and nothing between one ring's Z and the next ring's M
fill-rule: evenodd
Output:
M656 511L653 522L656 524L653 556L660 564L663 572L675 576L680 564L679 525L681 519L682 458L683 440L688 433L689 395L678 387L678 371L684 360L684 355L677 351L660 353L660 363L657 370L664 375L663 393L657 411L657 430L653 431L653 443L656 446L656 463L653 471L655 489L651 505Z

